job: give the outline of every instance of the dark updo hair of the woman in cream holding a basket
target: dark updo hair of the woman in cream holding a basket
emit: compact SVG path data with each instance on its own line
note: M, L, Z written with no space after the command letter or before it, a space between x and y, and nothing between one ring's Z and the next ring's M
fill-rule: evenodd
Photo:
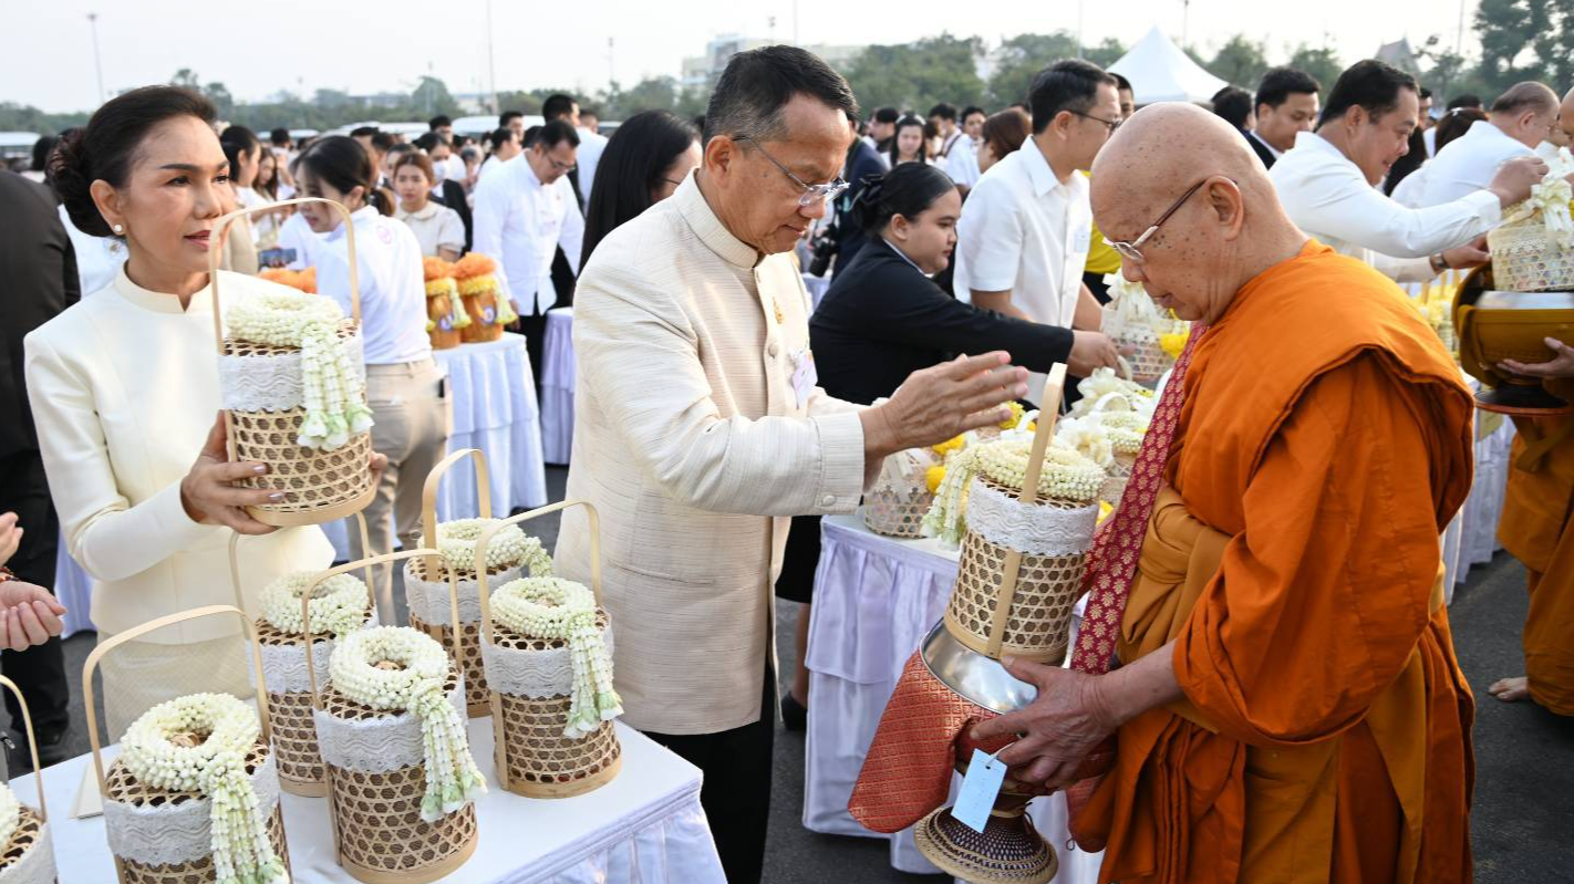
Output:
M179 87L142 87L104 102L88 124L66 132L49 154L46 175L71 223L88 236L115 236L93 201L93 182L124 187L142 142L159 124L195 116L212 126L212 102Z

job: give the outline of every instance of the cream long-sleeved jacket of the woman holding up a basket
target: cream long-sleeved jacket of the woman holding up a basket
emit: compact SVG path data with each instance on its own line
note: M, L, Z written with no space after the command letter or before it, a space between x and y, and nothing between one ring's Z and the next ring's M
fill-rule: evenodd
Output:
M224 304L277 289L220 271ZM192 522L181 480L219 414L212 289L186 310L172 294L115 282L25 338L27 392L66 546L93 577L93 623L124 632L206 604L235 604L230 530ZM275 577L334 558L316 527L242 538L247 607ZM255 613L255 610L253 610ZM150 642L230 635L238 623L203 618Z

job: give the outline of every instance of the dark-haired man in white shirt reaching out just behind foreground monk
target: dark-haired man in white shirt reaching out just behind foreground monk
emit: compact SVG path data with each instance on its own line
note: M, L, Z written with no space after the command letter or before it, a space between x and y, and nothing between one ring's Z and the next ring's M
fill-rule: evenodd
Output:
M1484 190L1407 209L1377 182L1409 149L1417 107L1413 77L1382 61L1360 61L1333 85L1317 131L1302 132L1295 149L1269 170L1295 227L1396 282L1426 282L1447 267L1486 261L1475 239L1547 171L1536 157L1514 159Z

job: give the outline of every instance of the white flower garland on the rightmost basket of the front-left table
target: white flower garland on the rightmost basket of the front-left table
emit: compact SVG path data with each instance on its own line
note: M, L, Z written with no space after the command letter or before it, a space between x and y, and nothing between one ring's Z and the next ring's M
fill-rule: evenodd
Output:
M529 639L568 642L575 661L575 691L563 736L579 739L601 722L623 714L612 689L612 659L595 624L595 595L582 584L557 577L526 577L497 588L493 623Z

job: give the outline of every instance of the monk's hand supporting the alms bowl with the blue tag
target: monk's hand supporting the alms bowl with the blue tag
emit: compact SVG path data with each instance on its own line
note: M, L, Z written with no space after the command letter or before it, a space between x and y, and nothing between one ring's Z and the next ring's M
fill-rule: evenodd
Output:
M1107 675L1086 675L1055 665L1004 657L1006 672L1039 689L1028 706L973 727L973 739L1022 735L999 750L1012 777L1051 790L1078 780L1077 769L1122 720L1103 691Z

